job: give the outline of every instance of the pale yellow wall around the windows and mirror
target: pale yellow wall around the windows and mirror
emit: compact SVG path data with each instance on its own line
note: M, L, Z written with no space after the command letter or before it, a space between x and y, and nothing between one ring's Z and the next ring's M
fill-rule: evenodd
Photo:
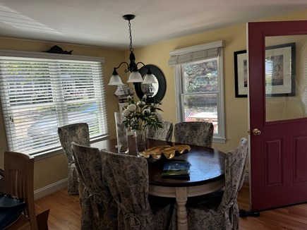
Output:
M307 11L290 13L276 18L276 20L307 20ZM128 39L128 38L127 38ZM169 40L152 44L148 47L135 49L136 61L143 61L146 64L158 66L165 75L167 91L163 99L162 109L164 120L176 123L175 87L173 68L167 66L169 51L183 47L189 47L217 40L226 41L224 48L224 102L226 117L226 138L225 144L214 143L213 147L227 152L236 147L239 139L247 137L248 131L248 100L246 98L234 97L234 52L246 49L246 25L236 25L229 28L212 30L197 35L181 37L176 40ZM0 49L15 49L21 51L41 52L48 50L54 43L26 41L0 38ZM114 66L117 66L125 57L128 60L128 51L103 49L100 47L85 47L71 44L59 44L64 50L73 49L73 54L85 56L103 56L106 62L104 69L104 84L107 93L107 113L109 116L109 135L115 137L114 111L118 111L118 100L113 94L115 86L107 86L112 75ZM119 70L123 75L124 71ZM4 131L3 117L0 113L0 167L3 167L3 152L7 150L6 136ZM35 162L35 190L55 183L67 176L67 163L64 154L55 155Z

